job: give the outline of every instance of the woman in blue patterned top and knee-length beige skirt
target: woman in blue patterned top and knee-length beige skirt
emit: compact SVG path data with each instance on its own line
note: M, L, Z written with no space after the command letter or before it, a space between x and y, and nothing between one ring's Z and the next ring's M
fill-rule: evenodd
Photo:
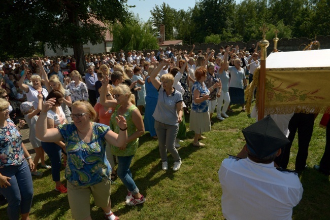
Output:
M203 132L211 131L211 121L209 115L209 99L210 92L221 87L221 82L215 83L207 88L204 81L206 80L207 70L200 67L195 71L196 82L192 85L192 106L190 111L190 131L194 131L194 139L192 145L204 146L199 139L204 139Z

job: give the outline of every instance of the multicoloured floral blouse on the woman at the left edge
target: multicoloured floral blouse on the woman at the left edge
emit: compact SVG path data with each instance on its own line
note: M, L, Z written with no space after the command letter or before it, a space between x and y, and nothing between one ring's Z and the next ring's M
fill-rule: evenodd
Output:
M0 168L19 166L25 160L22 135L12 120L7 119L7 123L6 127L0 128Z

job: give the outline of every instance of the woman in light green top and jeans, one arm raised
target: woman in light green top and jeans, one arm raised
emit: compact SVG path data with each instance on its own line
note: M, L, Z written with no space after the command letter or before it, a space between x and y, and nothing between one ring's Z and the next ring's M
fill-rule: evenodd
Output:
M100 93L100 103L104 106L114 107L115 111L111 116L110 127L119 133L121 128L115 123L118 116L126 119L127 123L127 141L117 148L112 144L111 152L118 158L117 175L128 190L125 198L126 204L129 206L138 205L145 202L145 198L140 194L139 188L133 180L130 172L130 163L136 154L139 146L139 137L144 134L144 124L139 109L134 105L135 97L130 92L128 86L124 84L118 85L114 88L113 96L116 100L106 99L107 85L109 84L109 77L106 76L102 80L102 88Z

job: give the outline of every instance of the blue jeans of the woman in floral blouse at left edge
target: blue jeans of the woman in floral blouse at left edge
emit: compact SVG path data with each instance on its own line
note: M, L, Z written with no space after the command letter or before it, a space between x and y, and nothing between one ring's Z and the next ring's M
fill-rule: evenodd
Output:
M7 213L10 220L18 220L19 213L28 213L31 209L33 197L33 183L31 171L24 161L19 166L8 166L0 169L0 173L8 176L10 187L0 188L8 201ZM0 217L1 218L1 217Z

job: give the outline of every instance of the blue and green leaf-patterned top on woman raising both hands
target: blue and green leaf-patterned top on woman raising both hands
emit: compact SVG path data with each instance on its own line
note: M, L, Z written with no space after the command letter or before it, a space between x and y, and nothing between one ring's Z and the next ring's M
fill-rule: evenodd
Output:
M74 124L58 125L68 154L65 178L75 186L92 186L109 178L112 169L106 157L105 134L110 127L92 123L93 136L89 143L82 141Z

